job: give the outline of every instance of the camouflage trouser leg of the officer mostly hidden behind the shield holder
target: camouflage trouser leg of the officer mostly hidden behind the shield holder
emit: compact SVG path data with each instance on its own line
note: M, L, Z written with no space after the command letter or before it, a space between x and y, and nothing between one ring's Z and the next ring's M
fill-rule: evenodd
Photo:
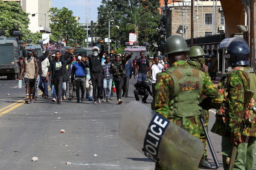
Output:
M203 119L204 119L204 126L206 127L206 130L208 132L209 111L204 112ZM207 159L207 148L206 148L207 143L206 143L206 136L205 136L204 129L203 129L202 125L200 125L200 140L204 144L204 154L202 156L201 161L205 161Z

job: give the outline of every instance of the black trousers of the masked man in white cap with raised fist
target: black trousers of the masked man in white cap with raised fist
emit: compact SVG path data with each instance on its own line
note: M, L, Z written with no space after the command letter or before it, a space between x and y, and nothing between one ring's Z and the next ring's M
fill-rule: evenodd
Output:
M91 82L93 84L93 100L95 101L100 98L102 74L90 73L90 76Z

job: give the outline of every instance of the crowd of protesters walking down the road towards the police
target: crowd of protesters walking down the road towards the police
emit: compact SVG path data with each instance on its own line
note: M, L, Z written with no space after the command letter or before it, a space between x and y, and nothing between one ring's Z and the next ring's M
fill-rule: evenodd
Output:
M101 49L104 49L103 41L99 41ZM104 55L104 50L98 46L92 48L92 54L83 56L73 54L77 43L71 50L66 49L65 54L60 51L55 54L48 52L48 44L43 55L38 57L37 51L28 50L26 53L26 42L23 44L23 59L20 64L20 78L24 75L26 84L26 103L38 100L38 88L43 92L42 97L49 98L48 80L52 90L52 102L61 102L67 99L69 89L69 100L77 103L85 99L93 101L94 104L111 102L116 92L116 104L122 104L122 97L128 98L129 80L134 76L137 82L134 84L134 97L137 101L142 98L143 103L150 94L154 97L154 87L157 73L169 68L167 57L148 57L143 51L140 58L137 56L131 60L134 53L125 53L123 56L116 55L115 51ZM48 57L49 56L49 57ZM214 57L212 59L214 61ZM213 65L212 65L213 68ZM211 69L212 79L215 79ZM150 87L151 86L151 87ZM152 91L151 91L152 89ZM81 94L81 96L80 96Z

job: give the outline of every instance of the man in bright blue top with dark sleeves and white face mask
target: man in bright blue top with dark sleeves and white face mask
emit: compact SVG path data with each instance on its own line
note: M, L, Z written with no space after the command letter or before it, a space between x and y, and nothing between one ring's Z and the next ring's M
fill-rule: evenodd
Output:
M85 82L85 68L88 68L88 62L85 62L85 58L82 57L82 54L78 54L76 62L73 64L71 72L71 82L76 82L76 97L77 103L80 103L79 90L81 88L81 102L84 101L84 82Z

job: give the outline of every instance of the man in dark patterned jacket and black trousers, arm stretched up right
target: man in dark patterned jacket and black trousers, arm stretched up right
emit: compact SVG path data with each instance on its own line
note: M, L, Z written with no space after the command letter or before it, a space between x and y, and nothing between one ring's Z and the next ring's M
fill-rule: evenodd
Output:
M110 73L113 74L114 83L116 85L116 96L117 96L117 103L118 105L122 104L121 94L122 94L122 85L125 78L125 63L128 59L131 58L133 52L127 57L121 59L120 55L116 56L115 61L111 63L110 66Z

